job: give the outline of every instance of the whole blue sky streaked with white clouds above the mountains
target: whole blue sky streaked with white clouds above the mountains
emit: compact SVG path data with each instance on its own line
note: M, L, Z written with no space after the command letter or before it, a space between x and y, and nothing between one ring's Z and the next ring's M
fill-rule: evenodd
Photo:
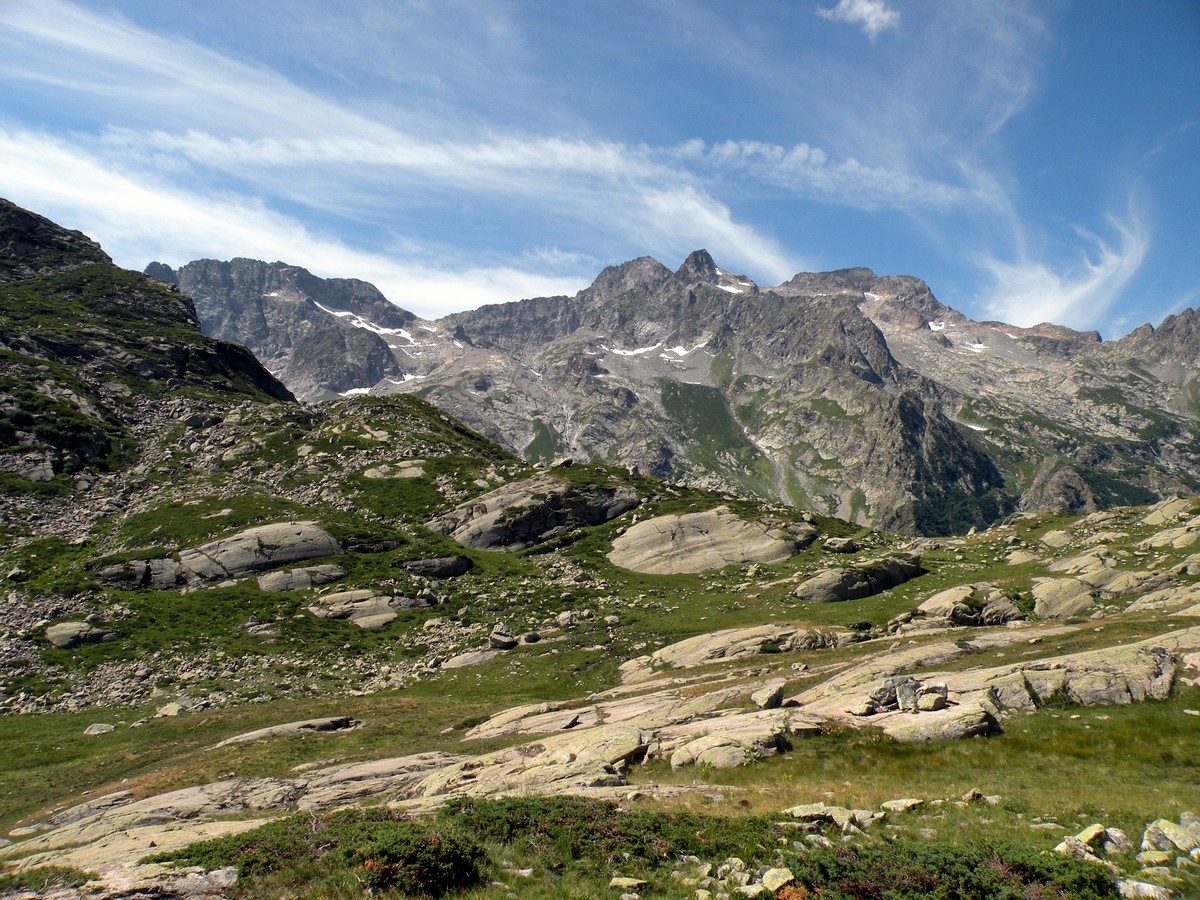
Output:
M427 317L706 247L1114 337L1200 302L1200 2L0 0L0 196Z

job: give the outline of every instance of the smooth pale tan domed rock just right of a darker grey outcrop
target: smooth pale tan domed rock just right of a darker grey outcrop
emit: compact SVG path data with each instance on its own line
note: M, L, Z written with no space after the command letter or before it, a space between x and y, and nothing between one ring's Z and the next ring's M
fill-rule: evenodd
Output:
M703 572L745 563L782 563L815 539L811 526L751 522L728 506L718 506L638 522L612 542L608 560L649 575Z

